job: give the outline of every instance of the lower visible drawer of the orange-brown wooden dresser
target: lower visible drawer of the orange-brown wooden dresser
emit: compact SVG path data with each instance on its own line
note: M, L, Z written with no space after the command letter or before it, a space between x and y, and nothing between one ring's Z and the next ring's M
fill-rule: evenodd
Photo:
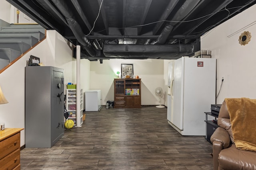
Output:
M8 154L0 160L0 167L4 170L12 170L20 164L20 149Z

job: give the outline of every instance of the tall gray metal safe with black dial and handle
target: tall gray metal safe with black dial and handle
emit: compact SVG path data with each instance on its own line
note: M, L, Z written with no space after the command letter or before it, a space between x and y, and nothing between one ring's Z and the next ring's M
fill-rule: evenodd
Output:
M25 68L25 147L50 148L64 135L63 69Z

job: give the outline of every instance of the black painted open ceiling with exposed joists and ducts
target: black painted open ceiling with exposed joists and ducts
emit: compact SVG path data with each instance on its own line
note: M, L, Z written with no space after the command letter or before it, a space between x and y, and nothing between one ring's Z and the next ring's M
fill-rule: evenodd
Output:
M200 50L201 35L256 4L256 0L7 1L44 28L80 44L81 58L90 61L192 56Z

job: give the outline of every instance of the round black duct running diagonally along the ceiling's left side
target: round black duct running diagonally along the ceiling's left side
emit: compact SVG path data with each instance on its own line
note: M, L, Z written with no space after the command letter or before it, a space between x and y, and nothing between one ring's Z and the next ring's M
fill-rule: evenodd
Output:
M68 7L66 1L64 0L52 0L55 6L60 10L60 12L64 15L71 31L74 33L77 41L86 49L88 54L92 57L96 56L96 51L93 49L90 41L84 35L81 26L76 21L74 13L72 12L71 8Z

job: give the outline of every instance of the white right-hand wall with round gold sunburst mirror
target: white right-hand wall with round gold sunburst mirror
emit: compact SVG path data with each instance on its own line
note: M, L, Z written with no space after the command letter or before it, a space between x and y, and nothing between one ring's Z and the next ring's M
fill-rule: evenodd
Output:
M256 98L255 11L256 5L201 37L201 49L211 50L212 58L217 59L217 93L224 78L217 104L222 104L225 98ZM252 35L245 46L238 42L244 31Z

